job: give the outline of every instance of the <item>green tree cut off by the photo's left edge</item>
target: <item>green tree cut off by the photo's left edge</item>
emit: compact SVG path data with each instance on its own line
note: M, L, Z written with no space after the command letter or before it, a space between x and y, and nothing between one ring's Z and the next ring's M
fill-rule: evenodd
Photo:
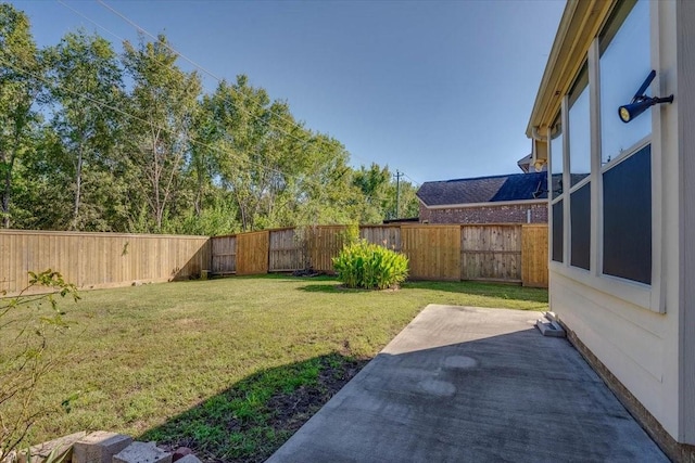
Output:
M20 157L31 149L38 114L41 66L27 16L0 3L0 215L10 228L13 181ZM38 78L37 78L38 77Z

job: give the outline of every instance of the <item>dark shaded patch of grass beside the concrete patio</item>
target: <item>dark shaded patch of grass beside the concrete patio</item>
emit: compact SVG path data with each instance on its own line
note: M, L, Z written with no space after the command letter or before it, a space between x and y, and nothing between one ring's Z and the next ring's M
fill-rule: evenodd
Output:
M203 462L263 462L367 362L333 352L261 371L138 439Z

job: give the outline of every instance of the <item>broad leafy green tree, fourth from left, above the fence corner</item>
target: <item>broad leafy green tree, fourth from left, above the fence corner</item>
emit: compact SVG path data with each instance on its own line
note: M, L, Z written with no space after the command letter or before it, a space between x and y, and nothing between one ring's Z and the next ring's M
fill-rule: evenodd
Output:
M222 81L203 99L208 141L220 184L236 200L244 231L292 224L289 208L307 168L311 137L285 102L271 102L245 76Z

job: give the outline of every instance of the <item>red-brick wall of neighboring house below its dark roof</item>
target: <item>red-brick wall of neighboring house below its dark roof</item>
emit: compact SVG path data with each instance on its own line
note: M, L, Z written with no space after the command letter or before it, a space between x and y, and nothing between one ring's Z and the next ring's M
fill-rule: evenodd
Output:
M531 223L547 223L547 204L515 204L430 209L420 203L420 222L428 223L526 223L531 210Z

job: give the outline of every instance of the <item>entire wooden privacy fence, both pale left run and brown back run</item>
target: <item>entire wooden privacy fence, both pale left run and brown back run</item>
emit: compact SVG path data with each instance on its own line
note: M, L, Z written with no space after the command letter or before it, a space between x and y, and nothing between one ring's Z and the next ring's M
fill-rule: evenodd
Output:
M229 236L0 230L0 291L16 294L29 271L52 269L80 288L217 274L332 271L345 227ZM403 252L416 280L486 280L547 287L547 226L365 226L359 235Z

